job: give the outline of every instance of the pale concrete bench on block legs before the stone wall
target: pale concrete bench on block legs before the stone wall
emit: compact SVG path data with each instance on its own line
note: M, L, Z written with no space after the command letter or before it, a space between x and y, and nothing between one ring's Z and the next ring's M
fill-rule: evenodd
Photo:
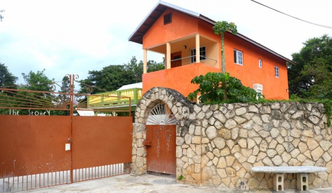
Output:
M283 191L283 175L285 173L296 173L297 190L308 191L308 173L326 172L327 168L318 166L256 166L251 168L252 172L274 173L273 189Z

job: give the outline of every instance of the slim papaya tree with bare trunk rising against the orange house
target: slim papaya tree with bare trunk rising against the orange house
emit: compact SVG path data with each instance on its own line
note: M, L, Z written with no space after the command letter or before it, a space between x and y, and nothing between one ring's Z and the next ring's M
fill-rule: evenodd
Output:
M236 25L232 22L228 23L227 21L218 21L215 26L213 26L213 31L217 35L221 35L221 70L222 73L226 73L226 58L225 58L225 46L224 46L224 33L231 32L232 34L237 34ZM227 90L227 84L224 82L222 84L223 90ZM226 92L224 92L223 99L227 99Z

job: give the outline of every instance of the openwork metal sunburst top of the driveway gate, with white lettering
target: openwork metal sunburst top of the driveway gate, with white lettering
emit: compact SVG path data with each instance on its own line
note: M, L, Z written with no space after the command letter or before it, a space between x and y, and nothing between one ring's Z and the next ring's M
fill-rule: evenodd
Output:
M35 112L34 115L40 115L47 111L48 115L73 115L81 111L83 116L113 116L118 112L130 115L130 97L84 84L77 80L78 75L65 77L61 82L20 85L18 89L0 88L0 114L31 115ZM79 90L75 90L75 82Z

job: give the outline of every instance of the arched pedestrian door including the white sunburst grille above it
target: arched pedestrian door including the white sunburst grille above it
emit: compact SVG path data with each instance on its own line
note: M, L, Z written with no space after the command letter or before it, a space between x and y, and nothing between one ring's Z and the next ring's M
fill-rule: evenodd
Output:
M158 104L146 124L148 173L176 175L175 139L176 118L166 104Z

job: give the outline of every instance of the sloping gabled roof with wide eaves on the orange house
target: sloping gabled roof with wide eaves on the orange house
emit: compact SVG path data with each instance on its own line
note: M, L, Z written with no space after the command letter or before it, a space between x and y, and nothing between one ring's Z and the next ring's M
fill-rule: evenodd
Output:
M216 21L208 18L208 17L205 17L204 15L202 14L199 14L199 13L196 13L194 11L190 11L188 9L184 9L182 7L179 7L179 6L176 6L176 5L173 5L173 4L170 4L170 3L167 3L167 2L164 2L164 1L159 1L153 8L152 10L149 12L149 14L143 19L143 21L138 25L138 27L135 29L135 31L130 35L130 37L128 38L129 41L131 42L135 42L135 43L138 43L138 44L143 44L143 36L145 35L145 33L147 33L149 31L149 29L152 27L152 25L155 23L155 21L157 21L157 19L164 13L164 11L169 8L169 9L173 9L175 11L179 11L179 12L182 12L184 14L187 14L189 16L192 16L192 17L195 17L197 19L200 19L208 24L211 24L211 25L215 25L216 24ZM291 63L291 64L295 64L294 61L278 54L277 52L243 36L242 34L239 34L237 33L237 36L238 38L241 38L259 48L262 48L274 55L276 55L277 57L280 57L282 58L283 60Z

